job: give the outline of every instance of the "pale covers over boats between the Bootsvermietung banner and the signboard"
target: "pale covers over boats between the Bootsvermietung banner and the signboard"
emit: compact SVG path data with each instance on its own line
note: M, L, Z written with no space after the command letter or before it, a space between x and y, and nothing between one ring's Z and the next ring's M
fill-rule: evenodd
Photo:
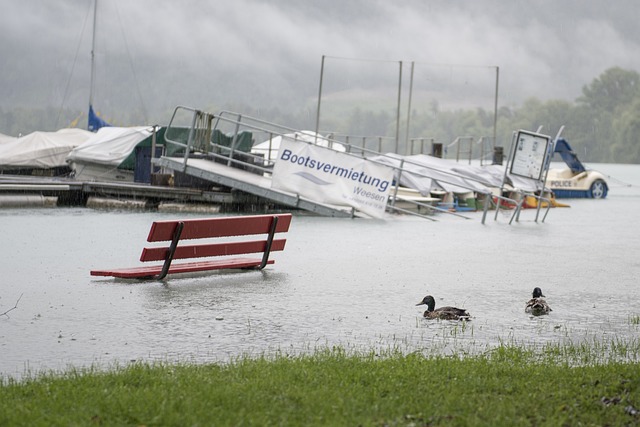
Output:
M397 181L399 178L401 186L418 190L425 197L434 190L458 194L470 191L490 192L502 187L505 173L505 166L502 165L464 165L424 154L400 156L388 153L369 160L396 168L394 179ZM403 172L399 174L401 163ZM511 174L507 175L506 184L524 191L537 191L541 188L538 181Z

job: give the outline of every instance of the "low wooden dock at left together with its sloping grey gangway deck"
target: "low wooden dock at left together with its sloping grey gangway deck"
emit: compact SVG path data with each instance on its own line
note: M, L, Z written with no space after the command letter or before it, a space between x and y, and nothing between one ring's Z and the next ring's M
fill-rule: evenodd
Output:
M161 157L156 167L171 171L165 185L124 181L79 181L65 177L0 174L0 208L86 206L204 212L306 210L352 217L352 209L315 202L271 188L270 174L250 172L212 160ZM152 179L152 181L154 181ZM162 181L162 180L157 180Z

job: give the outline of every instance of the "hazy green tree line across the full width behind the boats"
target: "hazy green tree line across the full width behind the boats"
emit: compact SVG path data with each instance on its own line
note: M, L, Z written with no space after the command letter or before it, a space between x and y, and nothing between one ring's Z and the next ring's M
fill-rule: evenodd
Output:
M207 111L227 109L295 129L314 129L312 108L297 112L278 107L258 109L247 105L211 106ZM166 124L170 111L156 114L160 120L142 123L139 112L122 117L119 126ZM414 110L410 116L410 137L429 137L445 146L459 136L492 137L494 112L482 108L441 110L434 102L426 111ZM497 112L495 145L508 147L511 135L519 129L555 136L564 126L566 138L578 156L587 162L640 163L640 74L619 67L610 68L585 85L574 101L540 100L531 97L518 107L500 107ZM162 119L165 118L165 119ZM0 109L0 133L18 136L36 130L53 131L61 127L86 128L86 113L56 108ZM327 121L331 131L394 137L396 116L389 110L373 111L363 107ZM401 124L404 129L405 124Z

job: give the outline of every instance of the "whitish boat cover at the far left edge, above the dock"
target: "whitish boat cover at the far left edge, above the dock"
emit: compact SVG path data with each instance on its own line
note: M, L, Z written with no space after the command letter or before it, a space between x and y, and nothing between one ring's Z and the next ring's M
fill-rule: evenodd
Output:
M93 134L83 129L33 132L0 144L0 169L49 169L67 166L67 155Z

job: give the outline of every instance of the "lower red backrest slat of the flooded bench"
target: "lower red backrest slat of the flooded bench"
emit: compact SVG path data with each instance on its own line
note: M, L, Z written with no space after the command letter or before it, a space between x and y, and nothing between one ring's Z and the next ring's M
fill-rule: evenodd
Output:
M271 251L282 251L286 239L275 239L271 244ZM245 242L225 242L201 245L178 246L173 254L174 259L203 258L211 256L241 255L264 252L267 246L266 240L252 240ZM144 248L140 255L140 261L163 261L168 247Z

